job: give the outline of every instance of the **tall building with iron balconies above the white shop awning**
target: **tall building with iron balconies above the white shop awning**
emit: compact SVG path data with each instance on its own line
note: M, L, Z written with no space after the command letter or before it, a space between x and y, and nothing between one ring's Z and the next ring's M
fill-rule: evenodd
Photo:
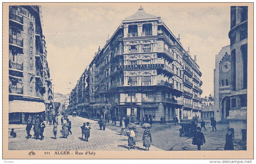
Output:
M52 109L41 15L40 6L9 7L9 124L25 124L35 114L47 119Z

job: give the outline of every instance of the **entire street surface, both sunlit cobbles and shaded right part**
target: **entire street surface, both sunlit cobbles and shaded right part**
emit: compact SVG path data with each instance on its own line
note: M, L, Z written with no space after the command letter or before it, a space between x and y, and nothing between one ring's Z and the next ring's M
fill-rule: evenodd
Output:
M53 125L46 125L44 129L45 137L42 141L34 138L26 139L26 125L9 125L9 135L11 128L14 128L14 131L17 132L17 138L9 137L9 150L128 150L128 137L119 135L119 122L116 125L111 122L107 123L106 130L100 131L98 121L82 117L68 116L68 118L72 123L72 135L69 135L67 139L61 136L61 125L58 125L57 139L53 139ZM81 139L80 126L84 122L90 122L92 128L89 142ZM218 132L212 132L211 126L206 124L207 131L202 130L206 139L206 144L202 146L202 150L223 150L227 126L217 125ZM179 136L179 128L178 125L153 124L150 129L152 135L150 150L196 150L196 146L191 144L191 138L184 135ZM129 151L144 150L143 131L144 129L140 125L136 125L136 147ZM30 134L33 135L34 132L31 130ZM234 145L235 150L244 150L244 146L236 143Z

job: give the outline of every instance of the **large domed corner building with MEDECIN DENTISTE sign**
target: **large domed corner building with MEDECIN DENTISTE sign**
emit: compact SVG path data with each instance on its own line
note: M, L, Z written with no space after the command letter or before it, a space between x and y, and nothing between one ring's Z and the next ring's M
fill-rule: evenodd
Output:
M88 102L112 104L108 114L138 122L146 116L154 122L161 116L167 122L173 117L179 121L201 117L203 82L196 56L192 59L161 18L142 7L99 47L85 75ZM77 86L71 92L70 106L80 100L75 98Z

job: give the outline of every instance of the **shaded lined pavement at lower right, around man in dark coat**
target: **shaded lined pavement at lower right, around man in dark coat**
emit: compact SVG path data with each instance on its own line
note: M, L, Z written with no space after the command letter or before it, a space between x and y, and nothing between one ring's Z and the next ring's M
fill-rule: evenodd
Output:
M224 150L225 136L227 134L228 125L217 125L217 132L212 132L212 128L208 125L207 131L204 133L206 143L201 146L201 150ZM172 150L197 150L196 145L192 145L192 139L188 139L181 144L174 146ZM235 150L246 150L246 146L238 143L234 143Z

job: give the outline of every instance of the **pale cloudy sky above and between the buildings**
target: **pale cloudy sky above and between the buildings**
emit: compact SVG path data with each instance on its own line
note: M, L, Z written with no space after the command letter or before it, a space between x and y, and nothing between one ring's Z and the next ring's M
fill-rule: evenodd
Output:
M230 7L167 6L163 4L42 5L43 35L54 92L69 94L99 46L102 48L126 17L143 6L161 17L190 51L202 72L204 96L213 91L215 55L230 40Z

